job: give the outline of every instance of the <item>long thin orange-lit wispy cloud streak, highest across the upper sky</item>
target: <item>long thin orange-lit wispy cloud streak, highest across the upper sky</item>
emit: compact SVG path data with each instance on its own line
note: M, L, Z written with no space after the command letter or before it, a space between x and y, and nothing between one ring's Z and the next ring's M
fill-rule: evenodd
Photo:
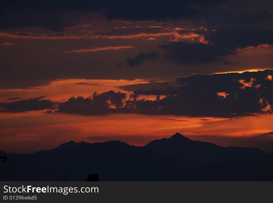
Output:
M13 32L13 33L0 33L0 36L7 38L28 38L28 39L132 39L144 38L154 40L161 36L175 36L179 38L195 38L203 35L206 30L200 29L183 29L183 28L164 28L161 26L148 26L148 27L115 27L110 30L84 30L79 33L69 33L69 30L64 33L31 33L31 32Z

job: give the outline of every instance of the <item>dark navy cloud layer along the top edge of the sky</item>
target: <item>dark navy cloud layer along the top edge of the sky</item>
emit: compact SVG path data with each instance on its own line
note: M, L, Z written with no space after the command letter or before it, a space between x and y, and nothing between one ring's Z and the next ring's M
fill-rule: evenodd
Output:
M1 27L47 27L56 31L87 20L82 13L100 11L109 20L167 20L200 15L204 9L215 5L217 0L186 0L166 3L163 1L4 1L1 5ZM139 12L141 11L141 12ZM71 12L73 15L71 15ZM77 17L75 17L77 16ZM89 17L89 20L92 18Z

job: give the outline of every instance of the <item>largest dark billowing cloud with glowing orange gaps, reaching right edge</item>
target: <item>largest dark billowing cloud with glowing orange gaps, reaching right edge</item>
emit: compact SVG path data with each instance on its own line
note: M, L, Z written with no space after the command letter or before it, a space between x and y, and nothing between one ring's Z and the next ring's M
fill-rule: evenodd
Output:
M60 103L58 112L83 115L140 113L192 117L238 117L272 113L273 70L225 74L193 74L177 78L180 86L157 90L136 90L130 99L121 92L94 93L84 99ZM158 95L156 100L139 95ZM159 95L166 95L160 99ZM114 106L111 108L111 106Z

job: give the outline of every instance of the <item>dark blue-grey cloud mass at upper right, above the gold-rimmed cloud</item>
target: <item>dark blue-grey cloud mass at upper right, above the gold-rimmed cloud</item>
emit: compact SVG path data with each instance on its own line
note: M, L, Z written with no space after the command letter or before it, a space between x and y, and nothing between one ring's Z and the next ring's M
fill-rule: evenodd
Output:
M273 30L255 27L219 28L204 35L205 43L171 42L159 48L166 51L165 58L177 64L208 63L220 60L223 56L234 54L238 48L273 45ZM229 62L223 61L230 65Z

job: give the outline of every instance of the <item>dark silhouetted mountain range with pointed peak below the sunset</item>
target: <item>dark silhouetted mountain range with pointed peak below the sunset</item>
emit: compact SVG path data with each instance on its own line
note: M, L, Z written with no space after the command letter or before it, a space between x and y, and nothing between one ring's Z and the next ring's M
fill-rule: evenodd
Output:
M190 140L176 133L144 147L120 141L70 141L34 154L6 154L1 181L266 181L273 180L272 155L257 148Z

